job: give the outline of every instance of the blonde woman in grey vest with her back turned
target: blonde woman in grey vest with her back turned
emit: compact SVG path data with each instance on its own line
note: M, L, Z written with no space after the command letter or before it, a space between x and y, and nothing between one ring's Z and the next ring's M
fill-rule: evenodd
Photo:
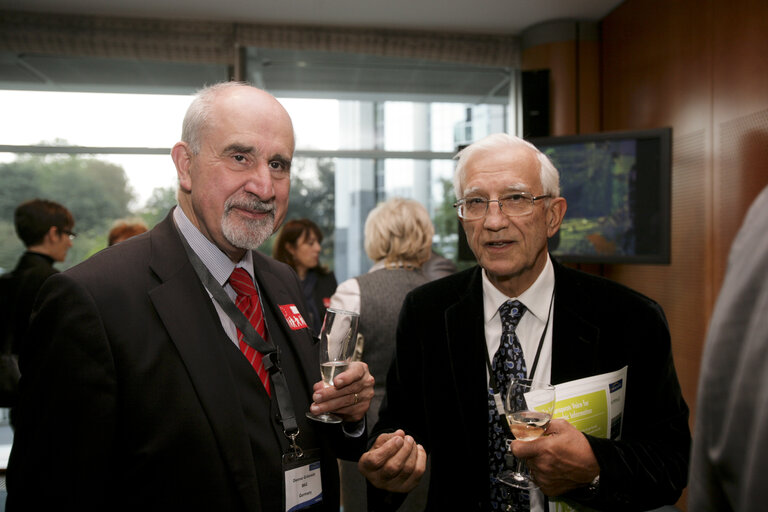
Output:
M379 416L387 370L395 349L395 329L403 300L428 282L421 266L431 256L434 227L426 208L412 199L395 198L371 210L365 221L365 252L373 267L367 274L344 281L331 297L331 307L360 313L357 357L376 379L366 421L370 429ZM344 512L367 510L365 479L354 462L340 461ZM423 510L426 482L409 493L400 512Z

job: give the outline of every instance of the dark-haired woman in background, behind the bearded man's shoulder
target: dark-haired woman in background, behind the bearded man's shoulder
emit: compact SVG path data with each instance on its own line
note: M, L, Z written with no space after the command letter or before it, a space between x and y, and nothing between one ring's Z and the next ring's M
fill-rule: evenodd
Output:
M299 275L309 314L307 324L315 334L320 333L325 310L336 291L336 276L320 264L322 241L323 233L317 224L294 219L283 225L272 248L272 257L287 263Z

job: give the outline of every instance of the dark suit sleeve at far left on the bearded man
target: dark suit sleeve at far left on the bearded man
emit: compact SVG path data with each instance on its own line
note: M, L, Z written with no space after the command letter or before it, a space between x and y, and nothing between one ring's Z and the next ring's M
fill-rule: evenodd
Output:
M92 297L64 274L43 286L21 356L8 467L19 509L107 509L115 439L115 366Z

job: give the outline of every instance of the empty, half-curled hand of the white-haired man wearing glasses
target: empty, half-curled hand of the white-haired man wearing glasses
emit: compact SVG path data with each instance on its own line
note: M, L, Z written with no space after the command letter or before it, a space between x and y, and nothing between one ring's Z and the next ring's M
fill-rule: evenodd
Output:
M323 381L315 383L312 390L314 402L309 410L313 414L332 412L346 422L360 421L371 406L373 382L368 365L354 361L333 379L333 386L325 387Z

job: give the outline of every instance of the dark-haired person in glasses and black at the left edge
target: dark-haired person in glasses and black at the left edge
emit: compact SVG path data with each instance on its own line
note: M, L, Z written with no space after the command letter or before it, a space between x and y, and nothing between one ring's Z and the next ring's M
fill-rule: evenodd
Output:
M55 262L63 262L72 247L75 220L59 203L32 199L21 203L14 212L16 234L26 251L16 267L0 278L0 318L2 318L3 350L18 357L24 344L32 305L43 282L58 270ZM14 403L11 425L14 425Z

